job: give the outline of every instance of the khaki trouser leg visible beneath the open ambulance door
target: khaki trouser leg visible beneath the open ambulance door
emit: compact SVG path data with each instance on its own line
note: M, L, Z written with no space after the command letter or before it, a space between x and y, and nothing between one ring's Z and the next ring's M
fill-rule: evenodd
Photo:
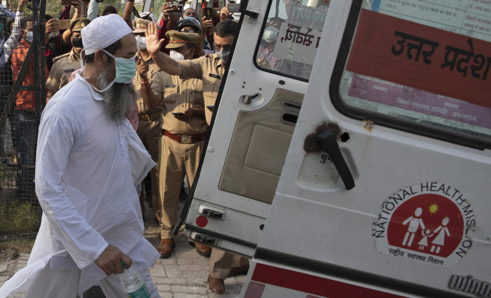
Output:
M240 267L249 264L249 259L236 256L233 253L220 249L212 249L210 257L210 275L216 279L225 280L232 267Z

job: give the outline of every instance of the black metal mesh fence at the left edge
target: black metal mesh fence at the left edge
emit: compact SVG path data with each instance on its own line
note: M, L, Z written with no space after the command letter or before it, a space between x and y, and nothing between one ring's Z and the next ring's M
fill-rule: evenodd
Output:
M0 7L0 240L34 237L41 215L34 169L46 98L46 0L18 1Z

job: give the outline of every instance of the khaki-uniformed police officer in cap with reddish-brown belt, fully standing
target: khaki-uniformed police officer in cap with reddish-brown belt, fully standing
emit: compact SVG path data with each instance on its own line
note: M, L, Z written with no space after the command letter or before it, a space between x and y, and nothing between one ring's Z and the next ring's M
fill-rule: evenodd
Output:
M196 52L197 33L175 30L165 34L167 49L174 60L192 59ZM174 61L173 60L173 61ZM142 85L143 86L143 85ZM177 205L184 175L193 183L200 161L208 124L205 120L202 81L180 78L159 71L152 89L142 88L142 95L150 107L162 102L162 137L158 161L161 200L161 242L157 250L162 259L170 257L176 246L172 233L177 223ZM210 248L196 243L202 256L209 257Z

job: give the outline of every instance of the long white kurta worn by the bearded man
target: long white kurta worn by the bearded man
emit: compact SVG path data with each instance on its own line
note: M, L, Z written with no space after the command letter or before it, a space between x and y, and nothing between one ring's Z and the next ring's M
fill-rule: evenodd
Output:
M110 120L102 96L79 74L50 99L36 157L41 226L27 267L0 288L0 297L25 290L50 260L54 269L81 269L82 296L105 278L94 261L109 244L128 254L136 269L155 264L160 254L143 238L129 136L138 138L130 122Z

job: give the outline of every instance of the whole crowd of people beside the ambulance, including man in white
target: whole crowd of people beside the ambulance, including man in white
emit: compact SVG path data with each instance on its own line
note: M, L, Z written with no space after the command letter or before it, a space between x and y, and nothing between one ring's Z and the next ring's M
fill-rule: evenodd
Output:
M26 2L19 2L12 42L0 60L11 63L13 81L33 41L33 19L22 15ZM18 92L13 113L18 198L37 195L44 212L28 266L4 284L0 297L19 289L27 289L26 297L40 297L39 289L46 297L75 297L93 286L108 297L123 296L114 275L123 272L121 261L159 296L147 268L172 256L183 178L193 184L211 120L206 107L215 104L238 30L227 7L220 19L198 19L193 8L177 14L170 4L158 24L150 12L132 19L131 0L122 17L113 7L97 16L95 0L81 17L81 0L72 0L60 14L67 19L75 10L65 31L47 16L47 104L40 125L34 90ZM218 1L211 6L218 8ZM276 28L273 35L278 22L268 26ZM264 45L271 43L267 36ZM24 86L33 83L33 73L31 60ZM34 162L35 177L23 166ZM149 171L151 190L145 191ZM157 248L142 237L145 196L160 224ZM224 280L249 268L245 258L194 246L210 258L213 292L224 293Z

